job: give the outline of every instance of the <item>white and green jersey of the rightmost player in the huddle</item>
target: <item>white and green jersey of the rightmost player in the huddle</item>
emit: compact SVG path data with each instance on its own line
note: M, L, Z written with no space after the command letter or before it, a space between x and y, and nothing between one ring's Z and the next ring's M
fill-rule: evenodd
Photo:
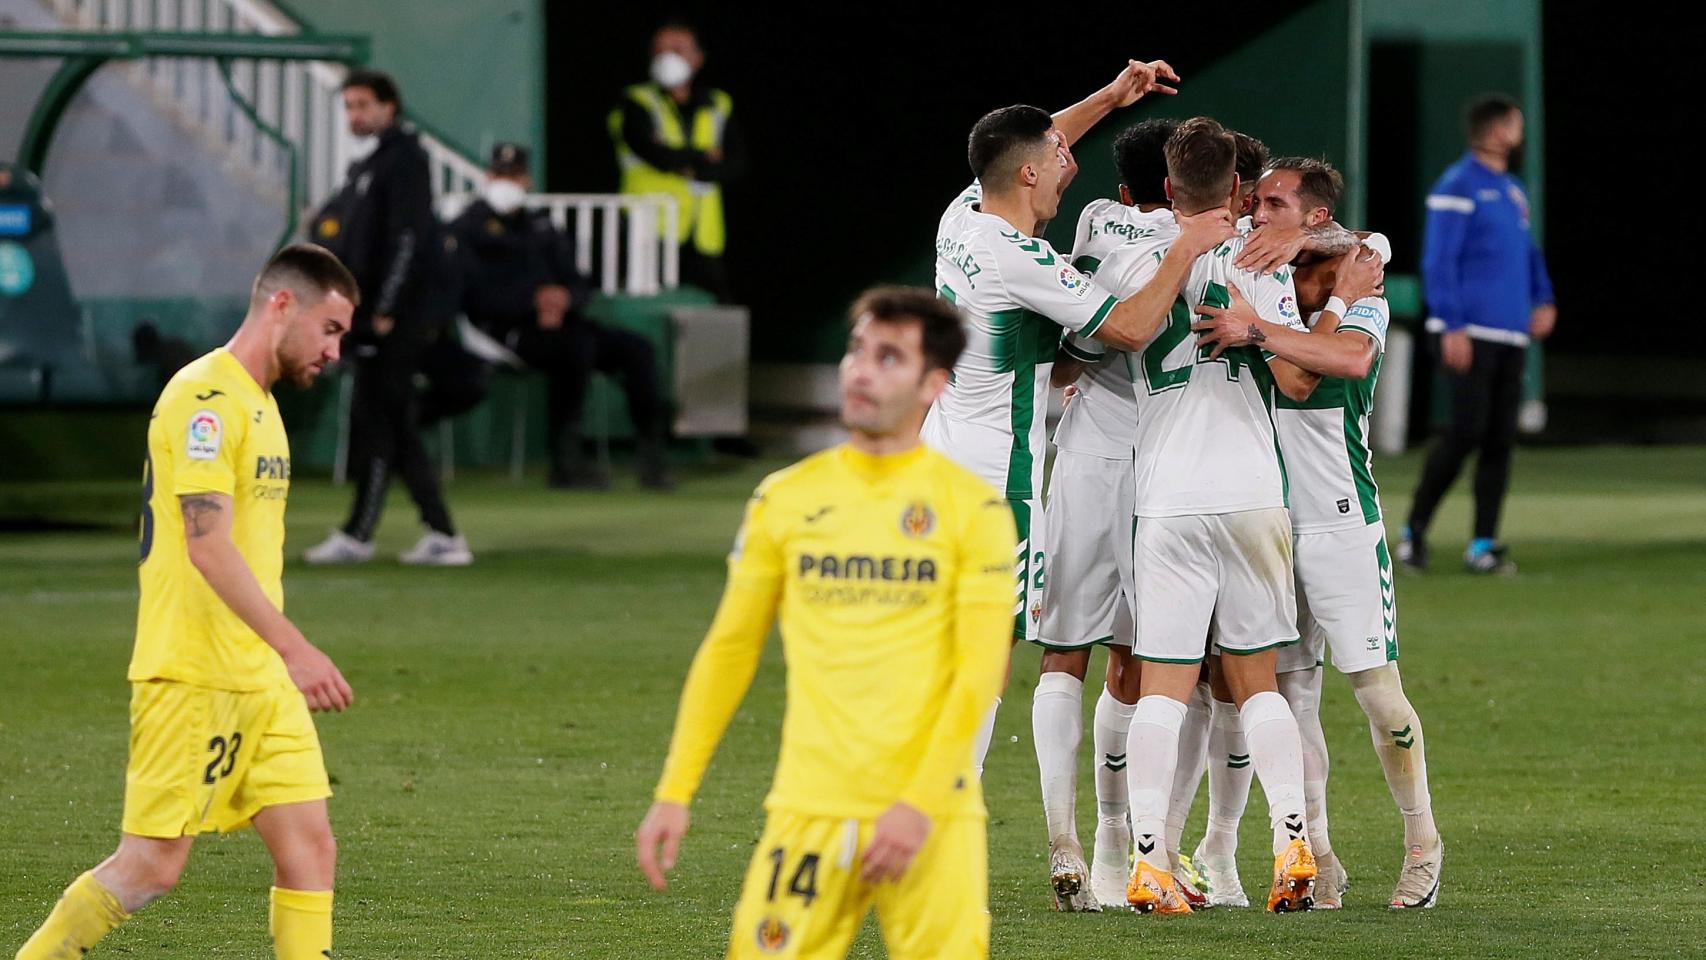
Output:
M1309 319L1314 327L1317 312ZM1361 331L1375 341L1375 361L1361 380L1322 377L1303 402L1280 397L1274 423L1291 479L1291 530L1320 534L1380 522L1368 411L1385 353L1390 322L1385 297L1358 300L1339 317L1341 331Z

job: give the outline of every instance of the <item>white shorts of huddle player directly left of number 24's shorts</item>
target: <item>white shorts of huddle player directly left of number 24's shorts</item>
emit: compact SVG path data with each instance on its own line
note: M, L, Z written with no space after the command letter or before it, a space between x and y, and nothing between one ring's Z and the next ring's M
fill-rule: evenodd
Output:
M1131 460L1059 450L1049 474L1049 576L1037 643L1131 646Z

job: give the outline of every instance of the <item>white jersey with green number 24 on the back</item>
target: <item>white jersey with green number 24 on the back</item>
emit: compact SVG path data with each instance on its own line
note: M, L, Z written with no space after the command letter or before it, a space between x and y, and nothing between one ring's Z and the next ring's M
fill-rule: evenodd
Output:
M1136 368L1138 517L1196 517L1286 505L1274 437L1274 379L1262 351L1240 346L1210 360L1191 333L1192 304L1228 305L1235 288L1269 322L1303 329L1291 269L1250 273L1232 263L1232 237L1191 264L1160 333L1133 356ZM1148 281L1172 240L1136 240L1102 261L1099 278L1128 297Z

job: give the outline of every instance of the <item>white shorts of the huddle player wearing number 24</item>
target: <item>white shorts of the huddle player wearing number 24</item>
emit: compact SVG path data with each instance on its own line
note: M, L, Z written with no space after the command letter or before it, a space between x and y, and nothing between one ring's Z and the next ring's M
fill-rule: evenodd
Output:
M1221 653L1297 643L1291 517L1283 506L1140 517L1131 556L1138 658L1198 663L1210 627Z

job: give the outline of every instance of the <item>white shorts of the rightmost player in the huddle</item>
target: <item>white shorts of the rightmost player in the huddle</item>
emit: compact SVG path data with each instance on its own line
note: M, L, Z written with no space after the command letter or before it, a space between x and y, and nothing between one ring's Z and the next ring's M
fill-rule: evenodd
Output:
M1310 665L1331 651L1341 674L1397 660L1392 554L1380 523L1302 534L1297 556L1297 626ZM1281 655L1285 660L1285 655ZM1302 667L1293 667L1293 670ZM1280 668L1285 674L1285 667Z

